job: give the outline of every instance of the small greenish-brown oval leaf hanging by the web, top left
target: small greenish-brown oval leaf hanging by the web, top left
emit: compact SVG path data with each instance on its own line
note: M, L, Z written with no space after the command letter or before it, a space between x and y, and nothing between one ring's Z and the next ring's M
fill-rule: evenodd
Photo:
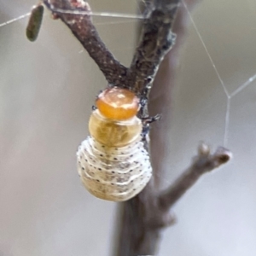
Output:
M44 5L42 3L39 3L32 8L31 15L26 26L26 38L28 38L28 40L34 42L38 38L43 15Z

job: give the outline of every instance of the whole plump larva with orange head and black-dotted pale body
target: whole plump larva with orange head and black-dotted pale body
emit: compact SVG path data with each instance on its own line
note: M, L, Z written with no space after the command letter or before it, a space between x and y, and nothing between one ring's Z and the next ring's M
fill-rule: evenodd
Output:
M127 201L148 183L152 168L141 142L139 101L130 90L113 87L96 100L90 116L90 136L79 147L79 176L92 195Z

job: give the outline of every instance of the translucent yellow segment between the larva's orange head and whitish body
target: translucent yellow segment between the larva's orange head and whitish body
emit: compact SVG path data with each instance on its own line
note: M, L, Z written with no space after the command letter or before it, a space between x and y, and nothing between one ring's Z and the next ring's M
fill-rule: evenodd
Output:
M124 147L133 143L140 137L142 128L142 122L137 116L119 121L106 119L98 110L90 115L90 135L108 147Z

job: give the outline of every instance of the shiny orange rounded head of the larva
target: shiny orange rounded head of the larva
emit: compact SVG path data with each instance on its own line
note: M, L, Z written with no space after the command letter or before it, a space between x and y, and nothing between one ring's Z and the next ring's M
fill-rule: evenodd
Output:
M108 119L131 119L137 114L139 99L131 90L113 87L102 91L96 107Z

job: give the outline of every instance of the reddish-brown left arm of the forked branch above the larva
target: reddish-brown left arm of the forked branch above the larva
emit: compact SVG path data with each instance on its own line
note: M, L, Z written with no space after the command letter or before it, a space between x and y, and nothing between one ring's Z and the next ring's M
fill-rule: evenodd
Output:
M90 57L96 61L108 84L122 86L127 68L114 58L96 32L89 4L79 0L44 0L44 4L54 17L60 18L70 28Z

